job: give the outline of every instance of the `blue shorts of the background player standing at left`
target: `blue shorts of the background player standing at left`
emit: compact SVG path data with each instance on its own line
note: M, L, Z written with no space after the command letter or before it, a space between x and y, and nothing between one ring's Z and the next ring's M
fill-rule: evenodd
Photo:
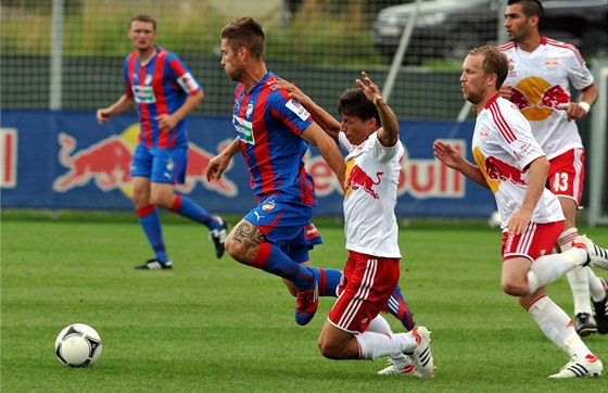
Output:
M152 182L181 185L186 180L188 148L152 149L139 143L131 161L131 177L148 177Z

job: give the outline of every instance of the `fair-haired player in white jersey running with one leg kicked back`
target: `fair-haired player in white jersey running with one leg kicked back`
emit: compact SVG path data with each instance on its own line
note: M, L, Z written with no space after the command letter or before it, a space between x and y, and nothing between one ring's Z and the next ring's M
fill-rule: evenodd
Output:
M563 230L557 196L546 189L549 163L530 124L510 101L499 97L509 63L496 47L469 52L463 63L463 96L477 113L471 148L477 165L449 143L435 141L435 157L494 193L503 217L503 291L517 296L545 335L570 357L549 378L599 376L603 365L583 343L572 320L546 293L545 286L577 266L608 269L608 251L584 236L570 250L550 251Z

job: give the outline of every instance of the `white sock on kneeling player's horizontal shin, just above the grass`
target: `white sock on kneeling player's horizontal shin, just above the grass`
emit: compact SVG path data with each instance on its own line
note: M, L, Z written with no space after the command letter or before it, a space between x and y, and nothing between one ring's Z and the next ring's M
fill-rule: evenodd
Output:
M382 356L395 356L404 352L414 352L418 342L411 333L382 334L366 331L355 334L359 344L359 358L376 360Z

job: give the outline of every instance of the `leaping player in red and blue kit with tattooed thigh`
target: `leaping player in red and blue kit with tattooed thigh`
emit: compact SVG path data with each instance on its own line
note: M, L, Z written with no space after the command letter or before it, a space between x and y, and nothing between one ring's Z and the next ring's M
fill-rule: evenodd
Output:
M318 307L319 292L325 292L329 269L307 266L304 228L311 224L317 198L303 156L308 143L316 145L341 185L344 162L297 101L286 91L270 90L268 83L278 77L266 67L264 45L262 26L251 17L233 21L221 30L221 65L239 83L232 110L238 136L211 160L206 177L219 179L232 156L243 154L258 205L228 234L226 251L242 264L293 282L295 320L306 325Z

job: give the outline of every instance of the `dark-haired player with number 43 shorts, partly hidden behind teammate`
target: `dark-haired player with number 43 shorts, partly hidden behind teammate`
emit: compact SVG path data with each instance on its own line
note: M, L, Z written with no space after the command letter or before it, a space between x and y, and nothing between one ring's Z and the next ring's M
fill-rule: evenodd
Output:
M587 115L597 100L597 87L577 48L541 36L543 13L540 1L509 0L504 25L510 41L499 48L509 59L510 68L501 96L519 107L547 154L546 186L558 196L566 216L557 245L567 251L579 234L575 219L584 178L585 151L574 121ZM573 101L570 85L581 91L579 102ZM577 267L567 277L574 299L577 332L582 337L596 331L608 333L606 281L588 267Z

